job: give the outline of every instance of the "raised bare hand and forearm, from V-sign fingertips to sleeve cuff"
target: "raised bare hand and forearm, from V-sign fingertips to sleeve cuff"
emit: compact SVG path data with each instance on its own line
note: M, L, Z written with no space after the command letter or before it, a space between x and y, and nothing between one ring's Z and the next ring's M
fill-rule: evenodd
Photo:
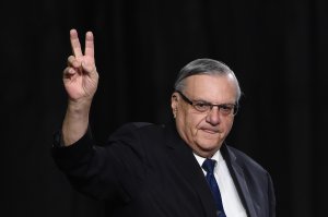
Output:
M94 61L93 34L85 35L85 48L82 52L75 29L70 32L73 55L68 58L62 81L69 97L62 122L62 141L72 145L86 132L92 98L97 89L98 73Z

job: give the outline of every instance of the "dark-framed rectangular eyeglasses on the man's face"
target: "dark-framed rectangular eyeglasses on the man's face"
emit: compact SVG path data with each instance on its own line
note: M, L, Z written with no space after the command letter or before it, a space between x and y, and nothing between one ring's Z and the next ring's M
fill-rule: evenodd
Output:
M238 111L238 106L236 104L211 104L211 103L208 103L208 101L201 101L201 100L190 100L188 99L181 92L179 91L176 91L180 96L181 98L189 105L192 106L192 108L195 108L195 110L199 111L199 112L209 112L212 110L212 108L214 106L218 107L219 111L221 114L223 116L230 116L230 114L233 114L235 116Z

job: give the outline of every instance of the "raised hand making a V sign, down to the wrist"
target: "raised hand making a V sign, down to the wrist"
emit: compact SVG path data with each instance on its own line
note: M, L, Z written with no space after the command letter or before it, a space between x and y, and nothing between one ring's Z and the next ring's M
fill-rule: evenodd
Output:
M98 84L93 34L85 34L84 53L75 29L70 31L70 40L73 55L68 58L68 67L63 70L65 88L71 101L91 103Z

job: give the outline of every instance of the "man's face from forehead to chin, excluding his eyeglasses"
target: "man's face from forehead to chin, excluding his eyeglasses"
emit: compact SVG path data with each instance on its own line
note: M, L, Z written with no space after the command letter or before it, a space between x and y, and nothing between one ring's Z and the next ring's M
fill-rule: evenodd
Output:
M232 75L191 75L181 93L191 101L214 105L236 103L236 83ZM196 110L179 93L172 95L172 109L183 140L202 157L211 157L222 145L233 125L234 116L214 106L208 112Z

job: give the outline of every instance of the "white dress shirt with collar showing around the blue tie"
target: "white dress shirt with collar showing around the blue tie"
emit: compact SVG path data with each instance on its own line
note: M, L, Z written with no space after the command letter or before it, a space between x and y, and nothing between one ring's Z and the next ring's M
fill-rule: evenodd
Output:
M202 162L206 160L206 158L200 157L194 153L197 161L199 162L199 166L202 166ZM223 159L221 152L218 150L212 159L216 161L214 167L214 177L216 179L221 197L222 197L222 204L225 212L225 215L227 217L247 217L246 210L242 204L242 201L239 198L238 192L236 190L236 186L234 184L234 181L230 174L230 171L226 167L225 160ZM204 176L207 174L207 171L202 169Z

